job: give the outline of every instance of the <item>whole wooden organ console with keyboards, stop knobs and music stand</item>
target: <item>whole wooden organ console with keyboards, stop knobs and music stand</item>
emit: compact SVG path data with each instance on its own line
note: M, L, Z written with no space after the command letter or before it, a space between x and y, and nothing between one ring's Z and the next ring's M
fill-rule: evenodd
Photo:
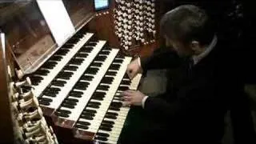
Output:
M130 80L126 66L139 54L140 46L155 46L154 14L151 19L144 13L143 19L136 19L130 10L120 11L130 6L121 1L109 1L110 8L101 11L94 10L94 0L53 1L52 6L48 3L49 10L62 7L72 24L68 34L64 29L56 34L56 23L66 25L61 23L65 14L55 14L56 20L50 22L54 14L46 14L42 6L47 4L40 2L0 3L0 30L5 35L1 42L1 112L10 116L1 119L8 127L6 140L117 143L130 110L122 106L120 94L137 90L142 76ZM130 4L138 5L138 10L154 6L154 0L140 2ZM133 18L127 23L126 14L118 18L121 13ZM101 33L106 15L105 26L110 27ZM127 33L140 25L140 33Z

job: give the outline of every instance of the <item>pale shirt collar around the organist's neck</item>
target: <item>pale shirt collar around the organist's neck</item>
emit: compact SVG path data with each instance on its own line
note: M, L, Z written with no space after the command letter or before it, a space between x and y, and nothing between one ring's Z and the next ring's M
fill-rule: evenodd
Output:
M194 61L194 65L196 65L198 62L200 62L202 60L202 58L205 58L210 53L210 51L214 49L217 42L218 42L218 38L217 38L216 35L214 35L214 38L210 42L210 45L206 46L204 51L202 51L201 54L193 55L192 58L193 58L193 61Z

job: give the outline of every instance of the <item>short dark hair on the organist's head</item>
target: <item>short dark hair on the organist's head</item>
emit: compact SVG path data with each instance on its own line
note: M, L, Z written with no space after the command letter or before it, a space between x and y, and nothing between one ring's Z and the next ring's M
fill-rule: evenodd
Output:
M167 12L160 22L160 31L171 40L186 43L196 40L210 44L214 38L214 24L205 10L193 5L182 5Z

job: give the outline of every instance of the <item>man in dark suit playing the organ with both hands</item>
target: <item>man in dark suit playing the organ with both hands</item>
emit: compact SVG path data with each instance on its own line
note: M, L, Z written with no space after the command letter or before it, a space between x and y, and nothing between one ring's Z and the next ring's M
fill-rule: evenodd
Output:
M178 6L163 16L160 26L166 46L173 49L135 59L127 74L133 78L141 69L166 68L178 72L170 75L166 93L156 98L134 90L122 93L126 105L142 106L147 116L142 134L134 132L126 142L220 143L230 91L234 92L225 45L197 6Z

